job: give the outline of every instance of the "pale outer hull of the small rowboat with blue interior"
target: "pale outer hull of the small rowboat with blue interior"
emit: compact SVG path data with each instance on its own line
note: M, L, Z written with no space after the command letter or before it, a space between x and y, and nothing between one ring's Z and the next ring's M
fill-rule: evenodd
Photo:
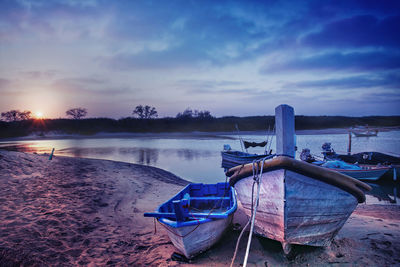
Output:
M232 218L233 214L229 215L228 218L211 220L198 226L192 225L179 228L170 227L168 224L164 224L164 226L168 230L168 236L173 245L186 258L190 259L218 242L231 224ZM162 220L160 222L163 223ZM197 229L194 230L196 227Z

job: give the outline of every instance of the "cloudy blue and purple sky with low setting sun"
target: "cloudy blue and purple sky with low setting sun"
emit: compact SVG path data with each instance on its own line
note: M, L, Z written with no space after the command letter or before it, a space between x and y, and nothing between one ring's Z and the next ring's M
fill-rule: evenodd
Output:
M400 1L0 0L0 112L400 115Z

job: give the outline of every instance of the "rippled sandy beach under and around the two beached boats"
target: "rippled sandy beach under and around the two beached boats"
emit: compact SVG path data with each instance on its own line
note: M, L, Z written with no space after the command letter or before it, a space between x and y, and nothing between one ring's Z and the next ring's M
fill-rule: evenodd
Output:
M240 210L235 230L190 263L171 260L165 230L143 217L187 183L154 167L0 150L0 266L229 266ZM400 265L400 207L360 204L330 246L296 251L288 260L257 237L248 266Z

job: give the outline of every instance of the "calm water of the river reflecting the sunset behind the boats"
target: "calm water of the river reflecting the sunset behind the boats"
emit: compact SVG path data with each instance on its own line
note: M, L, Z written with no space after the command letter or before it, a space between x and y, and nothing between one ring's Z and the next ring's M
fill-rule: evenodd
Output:
M234 136L235 137L235 136ZM240 142L232 136L222 138L98 138L98 139L59 139L0 142L0 147L8 147L25 152L50 153L55 155L109 159L151 165L168 170L192 182L219 182L225 180L221 168L221 150L224 144L241 150ZM260 142L262 135L245 135L243 139ZM321 145L330 142L338 153L346 153L347 134L297 135L297 157L301 149L309 148L315 156L321 155ZM269 146L269 145L267 145ZM275 138L270 147L275 150ZM380 132L378 137L352 138L352 153L378 151L393 155L400 154L400 131ZM263 148L250 148L249 152L263 153ZM392 201L400 190L396 187L374 188L382 194L381 201ZM397 192L396 192L397 191ZM394 192L394 193L393 193ZM400 192L399 192L400 193ZM386 197L385 195L389 196ZM377 198L367 199L371 203Z

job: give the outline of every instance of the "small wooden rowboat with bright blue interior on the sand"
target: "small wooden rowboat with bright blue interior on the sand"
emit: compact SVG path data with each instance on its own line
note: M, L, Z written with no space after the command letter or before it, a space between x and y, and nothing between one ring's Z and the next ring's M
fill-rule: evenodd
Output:
M209 249L223 235L237 209L228 183L189 184L145 217L156 217L187 258Z

